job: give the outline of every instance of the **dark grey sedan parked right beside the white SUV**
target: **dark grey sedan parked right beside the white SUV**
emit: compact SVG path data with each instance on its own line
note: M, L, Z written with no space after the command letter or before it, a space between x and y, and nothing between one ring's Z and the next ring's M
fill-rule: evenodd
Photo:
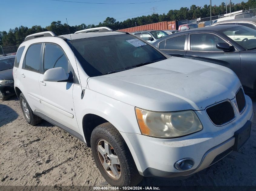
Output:
M165 53L231 68L247 94L256 94L256 30L217 25L186 30L153 43Z

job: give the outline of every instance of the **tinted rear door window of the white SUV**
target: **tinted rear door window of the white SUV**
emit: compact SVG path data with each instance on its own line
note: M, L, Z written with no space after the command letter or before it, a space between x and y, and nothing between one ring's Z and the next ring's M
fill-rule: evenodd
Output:
M25 68L35 72L40 72L41 68L41 46L42 44L34 44L28 48L25 56Z

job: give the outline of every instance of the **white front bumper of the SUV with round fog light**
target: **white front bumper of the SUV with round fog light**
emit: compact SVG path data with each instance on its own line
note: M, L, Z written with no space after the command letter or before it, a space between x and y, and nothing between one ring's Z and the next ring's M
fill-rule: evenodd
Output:
M241 115L237 114L231 123L217 127L206 117L200 118L204 129L180 138L162 139L135 133L120 133L141 175L188 176L211 166L232 151L230 148L235 143L234 132L243 127L248 120L252 121L252 102L248 96L246 102L244 112ZM201 111L203 112L205 111ZM175 162L183 158L194 160L194 166L190 170L181 171L174 167Z

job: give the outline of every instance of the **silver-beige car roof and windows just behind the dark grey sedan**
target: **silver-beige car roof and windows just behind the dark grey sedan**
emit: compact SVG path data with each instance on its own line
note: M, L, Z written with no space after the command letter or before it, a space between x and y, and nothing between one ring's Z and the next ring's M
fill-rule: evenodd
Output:
M245 27L250 27L252 29L256 29L256 18L231 19L227 21L220 21L220 22L214 23L211 26L224 25L224 24L238 24L238 25L243 25Z

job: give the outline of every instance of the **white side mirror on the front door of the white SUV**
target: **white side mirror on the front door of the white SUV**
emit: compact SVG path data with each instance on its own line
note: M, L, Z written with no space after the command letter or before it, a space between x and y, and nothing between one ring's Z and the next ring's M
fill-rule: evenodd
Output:
M44 80L44 81L54 81L54 82L58 82L58 81L65 81L65 80L68 80L68 77L69 77L69 74L65 73L64 68L58 67L58 68L51 68L51 69L48 69L48 70L44 73L43 80Z

